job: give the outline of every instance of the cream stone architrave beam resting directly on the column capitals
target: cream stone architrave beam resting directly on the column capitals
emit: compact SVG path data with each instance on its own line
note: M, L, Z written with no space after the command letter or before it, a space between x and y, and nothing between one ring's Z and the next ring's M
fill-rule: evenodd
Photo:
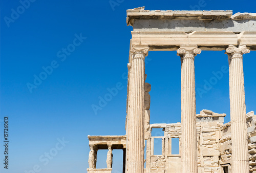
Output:
M229 45L256 50L256 31L132 31L131 45L147 45L150 51L176 51L183 44L197 45L203 51L222 51Z

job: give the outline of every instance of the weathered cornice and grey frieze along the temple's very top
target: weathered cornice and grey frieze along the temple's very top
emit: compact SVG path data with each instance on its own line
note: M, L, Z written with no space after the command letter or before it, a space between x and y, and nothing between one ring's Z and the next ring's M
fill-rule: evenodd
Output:
M222 10L151 11L143 7L127 10L126 23L134 31L255 31L256 13L232 13Z

